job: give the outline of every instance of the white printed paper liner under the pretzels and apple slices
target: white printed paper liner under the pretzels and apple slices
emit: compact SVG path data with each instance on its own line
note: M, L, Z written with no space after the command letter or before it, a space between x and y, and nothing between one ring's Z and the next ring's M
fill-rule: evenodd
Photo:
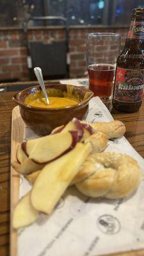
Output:
M90 100L88 122L109 122L113 117L99 97ZM35 137L27 127L24 138ZM123 137L111 140L106 151L144 159ZM31 189L21 176L20 197ZM144 248L144 182L129 198L106 200L84 196L70 187L56 209L19 230L17 256L96 256Z

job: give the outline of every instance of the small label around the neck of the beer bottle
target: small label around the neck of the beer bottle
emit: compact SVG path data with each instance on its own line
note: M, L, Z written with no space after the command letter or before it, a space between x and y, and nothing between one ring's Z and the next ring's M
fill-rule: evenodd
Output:
M132 21L127 38L144 38L144 21Z

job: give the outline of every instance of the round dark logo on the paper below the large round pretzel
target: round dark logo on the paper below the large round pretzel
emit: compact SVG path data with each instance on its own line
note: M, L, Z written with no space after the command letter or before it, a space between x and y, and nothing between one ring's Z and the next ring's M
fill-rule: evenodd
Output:
M112 215L102 215L97 220L97 227L102 233L113 235L120 231L120 221Z

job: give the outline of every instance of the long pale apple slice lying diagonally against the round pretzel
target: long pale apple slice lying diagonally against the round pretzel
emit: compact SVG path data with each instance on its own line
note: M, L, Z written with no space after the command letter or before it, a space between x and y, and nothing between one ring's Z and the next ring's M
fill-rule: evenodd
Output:
M31 204L36 210L52 212L91 151L91 143L77 143L73 150L44 167L31 191Z

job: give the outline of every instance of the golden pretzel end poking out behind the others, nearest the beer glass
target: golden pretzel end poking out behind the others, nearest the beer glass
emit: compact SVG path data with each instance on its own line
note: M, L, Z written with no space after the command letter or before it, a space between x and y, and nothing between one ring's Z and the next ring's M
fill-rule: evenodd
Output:
M118 120L111 121L108 123L93 123L90 125L93 127L93 129L95 129L95 131L106 133L109 139L121 137L125 133L124 123Z

